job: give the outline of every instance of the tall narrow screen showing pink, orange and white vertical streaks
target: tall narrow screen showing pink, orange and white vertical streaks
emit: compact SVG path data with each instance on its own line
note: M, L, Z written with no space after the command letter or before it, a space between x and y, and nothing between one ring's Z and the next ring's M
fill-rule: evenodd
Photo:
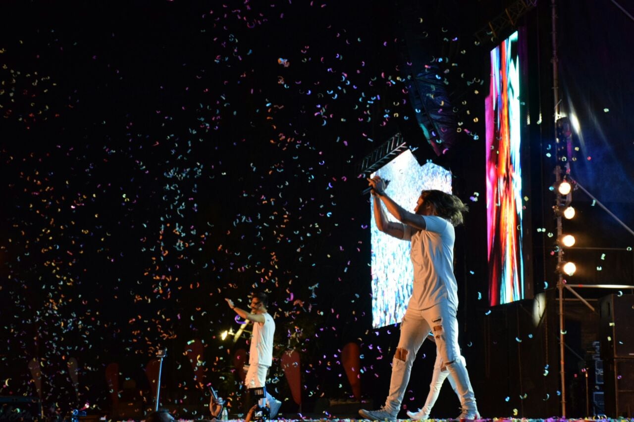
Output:
M491 80L486 98L486 208L489 304L533 297L530 278L528 143L522 103L518 32L491 51Z

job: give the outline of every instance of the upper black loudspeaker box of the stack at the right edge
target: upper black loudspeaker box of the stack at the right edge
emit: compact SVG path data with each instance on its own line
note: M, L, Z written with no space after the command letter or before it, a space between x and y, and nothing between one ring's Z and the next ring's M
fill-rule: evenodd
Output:
M601 357L634 358L634 295L599 299Z

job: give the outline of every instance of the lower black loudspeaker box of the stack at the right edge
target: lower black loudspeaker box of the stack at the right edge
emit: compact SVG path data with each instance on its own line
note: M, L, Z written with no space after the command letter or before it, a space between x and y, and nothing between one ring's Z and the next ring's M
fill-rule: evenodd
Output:
M610 418L634 415L634 359L604 362L605 414Z

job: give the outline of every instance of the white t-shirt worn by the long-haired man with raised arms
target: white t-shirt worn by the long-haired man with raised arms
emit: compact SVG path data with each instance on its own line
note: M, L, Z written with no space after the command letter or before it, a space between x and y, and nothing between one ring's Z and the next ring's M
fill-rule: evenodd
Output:
M403 240L411 241L410 258L414 267L414 288L408 309L429 309L444 301L458 309L458 285L453 274L455 231L443 217L422 217L425 230L403 224Z

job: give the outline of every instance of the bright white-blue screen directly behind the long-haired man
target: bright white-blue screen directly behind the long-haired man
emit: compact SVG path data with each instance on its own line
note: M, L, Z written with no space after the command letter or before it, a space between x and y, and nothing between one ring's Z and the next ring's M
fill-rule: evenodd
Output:
M390 181L386 193L410 211L416 207L422 190L438 189L451 193L451 173L434 163L419 165L410 150L405 150L375 174ZM414 272L410 261L410 242L378 231L372 213L370 201L372 327L380 328L400 323L403 319L411 296ZM387 218L396 221L389 214Z

